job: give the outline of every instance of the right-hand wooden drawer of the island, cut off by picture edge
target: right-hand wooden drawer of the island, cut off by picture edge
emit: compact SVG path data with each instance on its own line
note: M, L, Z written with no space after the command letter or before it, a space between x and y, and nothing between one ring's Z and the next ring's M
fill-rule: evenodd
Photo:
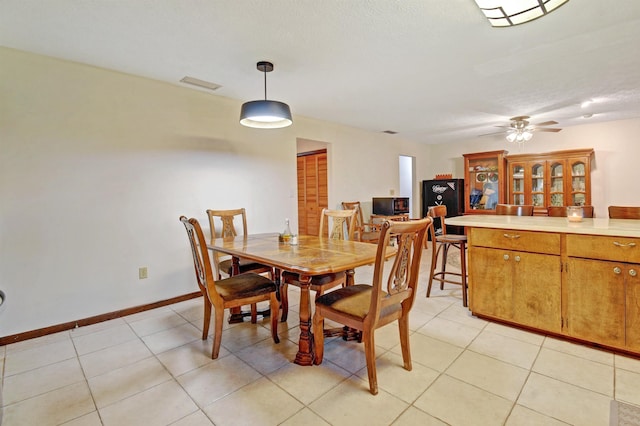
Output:
M568 234L567 255L587 259L640 263L640 239Z

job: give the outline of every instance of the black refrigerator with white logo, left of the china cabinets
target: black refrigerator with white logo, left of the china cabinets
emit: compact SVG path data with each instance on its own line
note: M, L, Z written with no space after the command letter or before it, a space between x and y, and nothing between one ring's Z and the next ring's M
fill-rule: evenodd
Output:
M464 179L436 179L422 181L422 217L427 216L429 207L444 204L447 217L464 214ZM442 233L440 220L434 221L436 235ZM447 225L448 234L464 235L464 227Z

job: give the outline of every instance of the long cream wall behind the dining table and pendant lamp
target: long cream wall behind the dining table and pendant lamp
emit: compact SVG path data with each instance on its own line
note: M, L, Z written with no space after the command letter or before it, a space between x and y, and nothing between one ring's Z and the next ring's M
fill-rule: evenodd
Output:
M328 144L331 206L397 191L400 154L428 168L396 136L248 129L240 101L6 48L0 63L0 336L197 291L178 217L242 206L250 232L280 231L298 138Z

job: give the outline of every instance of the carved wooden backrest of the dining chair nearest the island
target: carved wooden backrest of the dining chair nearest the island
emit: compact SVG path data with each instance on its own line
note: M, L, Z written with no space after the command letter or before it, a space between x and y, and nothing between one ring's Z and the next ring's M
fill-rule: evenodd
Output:
M423 246L432 226L430 217L382 224L373 271L373 294L365 323L369 322L375 328L381 312L391 305L402 304L403 315L409 313L418 286ZM396 240L397 251L389 262L385 253L391 238ZM391 268L388 273L385 272L387 266ZM385 277L387 282L383 288Z

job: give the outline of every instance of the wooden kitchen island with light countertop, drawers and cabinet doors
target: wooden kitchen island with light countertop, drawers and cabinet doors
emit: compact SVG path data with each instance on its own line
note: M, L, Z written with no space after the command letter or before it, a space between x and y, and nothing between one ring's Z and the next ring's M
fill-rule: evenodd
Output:
M640 356L640 220L468 215L479 317Z

